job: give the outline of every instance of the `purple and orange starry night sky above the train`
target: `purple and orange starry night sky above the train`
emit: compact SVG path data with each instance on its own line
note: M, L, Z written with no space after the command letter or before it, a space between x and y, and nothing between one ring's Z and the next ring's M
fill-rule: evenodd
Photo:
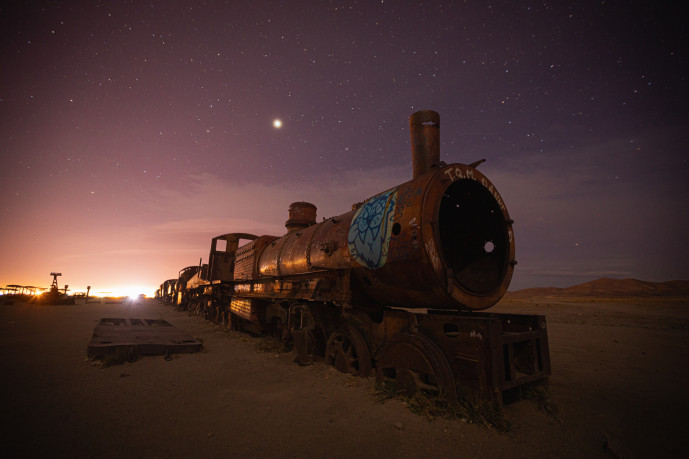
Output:
M688 279L687 30L660 5L3 2L0 285L151 294L213 236L409 180L421 109L441 160L487 159L511 289Z

